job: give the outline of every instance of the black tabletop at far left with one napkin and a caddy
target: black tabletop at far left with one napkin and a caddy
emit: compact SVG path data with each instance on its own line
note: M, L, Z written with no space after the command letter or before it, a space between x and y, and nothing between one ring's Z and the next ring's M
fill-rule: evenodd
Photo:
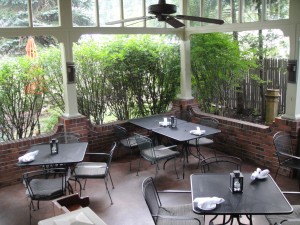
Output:
M19 166L37 166L50 164L73 164L81 162L84 158L87 142L59 144L58 154L51 155L50 144L33 145L27 151L39 150L35 160L27 163L18 163Z

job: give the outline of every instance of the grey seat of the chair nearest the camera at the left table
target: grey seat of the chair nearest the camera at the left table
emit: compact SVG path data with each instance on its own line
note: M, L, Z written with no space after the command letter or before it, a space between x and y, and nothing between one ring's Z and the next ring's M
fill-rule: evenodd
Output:
M56 196L60 197L64 195L62 190L62 178L58 177L55 179L33 179L30 181L30 188L32 191L32 200L45 200L45 199L54 199ZM26 190L28 196L28 189Z

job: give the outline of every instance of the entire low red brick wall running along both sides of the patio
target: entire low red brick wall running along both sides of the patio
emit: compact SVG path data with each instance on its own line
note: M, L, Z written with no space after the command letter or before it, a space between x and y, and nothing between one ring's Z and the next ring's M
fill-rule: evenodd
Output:
M243 160L257 164L257 166L269 168L274 171L278 164L274 156L273 134L279 130L290 132L294 146L299 146L297 140L300 121L276 118L275 122L270 126L257 125L205 114L200 112L196 105L193 100L177 101L173 104L171 112L180 108L191 108L194 122L199 121L203 116L211 116L218 119L222 132L215 137L214 147L221 152L239 156ZM116 123L125 126L131 132L143 132L142 130L136 130L136 127L127 122L118 121ZM115 140L112 128L113 124L94 126L84 116L76 118L60 117L59 123L52 133L0 143L0 188L21 182L22 174L25 171L37 169L34 167L18 167L16 165L18 157L22 156L31 145L49 143L52 137L55 137L57 134L68 132L77 134L80 141L88 141L88 151L108 152L111 143ZM118 152L119 157L122 157L122 154L125 154L125 152ZM283 174L287 174L287 172L284 170L281 171Z

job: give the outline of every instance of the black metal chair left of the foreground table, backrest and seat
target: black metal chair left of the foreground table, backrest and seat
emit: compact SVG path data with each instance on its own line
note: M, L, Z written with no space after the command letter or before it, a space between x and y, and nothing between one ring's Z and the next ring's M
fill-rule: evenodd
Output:
M142 184L143 196L156 225L201 225L204 217L193 213L192 204L163 206L152 177Z

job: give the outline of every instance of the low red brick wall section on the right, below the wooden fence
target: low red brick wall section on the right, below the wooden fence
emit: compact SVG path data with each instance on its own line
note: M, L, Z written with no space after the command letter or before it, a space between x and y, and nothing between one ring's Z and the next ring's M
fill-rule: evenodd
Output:
M214 117L220 122L221 133L214 138L213 148L218 151L234 155L261 168L268 168L275 172L278 167L273 135L277 131L286 131L291 134L293 148L299 155L299 128L300 121L292 121L280 117L270 126L249 123L245 121L205 114L199 109L192 108L193 122L201 117ZM282 169L279 173L288 175L289 170Z

